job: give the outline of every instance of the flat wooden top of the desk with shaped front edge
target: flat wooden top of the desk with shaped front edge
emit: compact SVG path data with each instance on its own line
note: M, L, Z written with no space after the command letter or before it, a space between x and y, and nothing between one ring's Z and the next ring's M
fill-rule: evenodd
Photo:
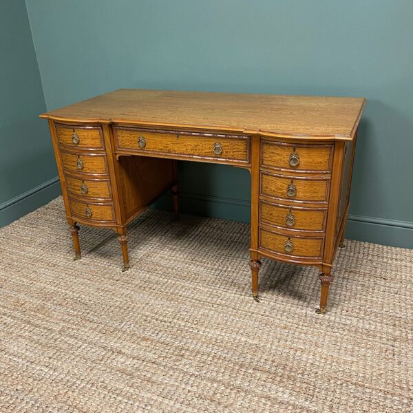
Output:
M364 98L118 89L41 117L351 140L365 105Z

